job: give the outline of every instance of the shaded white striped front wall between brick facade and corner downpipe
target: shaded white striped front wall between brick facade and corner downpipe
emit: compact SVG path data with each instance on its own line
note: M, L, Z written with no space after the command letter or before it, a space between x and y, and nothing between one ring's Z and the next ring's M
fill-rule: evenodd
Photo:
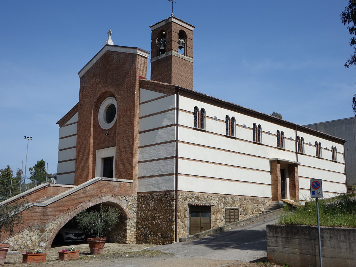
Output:
M140 103L162 96L140 89ZM170 110L175 107L175 95L140 104L137 192L174 190L175 159L165 158L176 153L176 143L169 142L176 138L176 110Z

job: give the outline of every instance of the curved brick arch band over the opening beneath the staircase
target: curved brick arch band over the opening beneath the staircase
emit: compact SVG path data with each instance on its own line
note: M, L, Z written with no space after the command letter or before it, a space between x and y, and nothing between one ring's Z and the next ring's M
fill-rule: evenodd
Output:
M48 239L48 243L46 244L46 249L51 248L52 242L54 240L54 237L58 234L58 231L61 230L61 228L68 223L68 221L72 218L74 218L75 215L80 213L83 209L88 209L94 205L100 204L100 203L113 203L119 206L119 210L121 211L122 215L125 215L126 219L131 218L131 214L129 209L127 209L126 204L122 202L120 199L117 199L112 196L100 196L98 198L85 201L82 204L78 205L77 208L74 210L70 211L67 213L67 215L61 220L61 223L59 223L56 228L52 231L51 236Z

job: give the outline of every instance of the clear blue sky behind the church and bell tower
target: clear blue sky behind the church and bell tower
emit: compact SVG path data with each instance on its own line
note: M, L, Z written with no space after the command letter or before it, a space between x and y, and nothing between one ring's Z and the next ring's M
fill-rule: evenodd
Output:
M352 117L346 4L176 0L174 15L196 27L194 90L301 125ZM27 169L43 158L55 173L56 122L78 102L77 73L108 29L115 45L150 50L148 26L170 15L167 0L2 1L0 168L21 168L26 135Z

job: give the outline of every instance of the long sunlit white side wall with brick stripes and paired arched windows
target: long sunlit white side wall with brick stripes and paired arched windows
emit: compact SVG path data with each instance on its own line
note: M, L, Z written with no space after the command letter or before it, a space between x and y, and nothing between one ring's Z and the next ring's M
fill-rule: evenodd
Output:
M206 112L205 132L193 129L194 106L197 106L199 110L204 108ZM236 139L225 136L226 115L236 119ZM214 120L215 116L218 120ZM262 127L263 145L252 143L253 123L260 124ZM244 124L246 128L243 127ZM284 132L284 150L277 148L277 137L275 136L277 130ZM336 146L337 151L343 153L342 145L332 142L328 138L320 138L300 131L297 132L297 135L303 137L305 143L305 155L298 154L298 162L300 162L298 169L299 176L301 176L299 178L300 192L304 192L305 188L309 189L309 179L312 178L321 178L325 181L323 188L327 195L345 192L343 155L338 154L337 163L331 161L331 146ZM289 137L292 140L289 140ZM178 190L192 192L218 190L219 193L230 194L231 188L230 185L226 186L226 180L238 180L251 182L251 184L245 188L236 185L241 182L232 182L231 187L236 188L234 190L236 195L248 193L251 196L257 196L260 194L260 187L264 188L263 190L268 188L268 195L271 195L270 186L258 184L271 184L269 158L296 161L293 127L289 128L282 124L279 125L278 121L276 123L265 121L252 115L240 114L184 96L179 97L179 141L181 142L178 147L180 158L178 172L185 174L182 176L185 178L178 177ZM313 145L315 141L321 142L323 148L328 147L328 151L323 149L322 159L316 158L315 147L309 146L309 142ZM313 168L308 168L308 166ZM204 179L204 177L215 179ZM181 183L180 179L184 179L186 182ZM287 183L288 180L287 177ZM194 181L200 181L200 187L205 189L197 189L199 188L198 182L194 183ZM212 184L214 186L211 186ZM210 189L208 189L209 187ZM289 195L288 184L286 188L287 195ZM265 192L263 190L262 192ZM267 192L263 193L265 196L266 194Z

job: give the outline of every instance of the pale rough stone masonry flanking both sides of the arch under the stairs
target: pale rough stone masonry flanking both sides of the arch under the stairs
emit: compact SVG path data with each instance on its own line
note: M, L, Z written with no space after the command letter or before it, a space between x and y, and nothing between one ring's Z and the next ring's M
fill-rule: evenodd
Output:
M126 219L125 215L122 215L116 229L109 233L108 241L117 243L135 243L137 196L116 196L116 198L125 203L131 218ZM62 223L62 220L68 221L67 217L68 214L65 214L56 220L51 221L47 225L32 225L15 235L2 240L2 243L10 243L11 250L25 251L35 250L37 248L48 248L52 233L54 234L54 230L57 230L56 228Z

